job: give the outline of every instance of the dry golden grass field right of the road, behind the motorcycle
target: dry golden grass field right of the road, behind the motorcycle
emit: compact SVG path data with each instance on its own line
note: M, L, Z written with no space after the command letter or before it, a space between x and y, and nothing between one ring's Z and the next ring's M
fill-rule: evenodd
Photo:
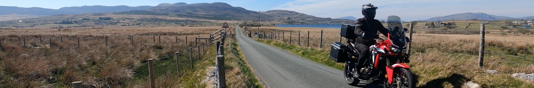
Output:
M331 42L339 42L339 29L284 27L260 29L261 33L277 30L286 31L285 43L289 43L287 41L289 30L310 31L312 39L310 41L315 41L310 42L310 47L313 48L318 48L319 42L316 39L320 38L320 30L324 30L323 49L326 51L329 51ZM249 31L256 32L257 29L251 27ZM302 47L307 47L305 35L307 34L303 37L301 33ZM297 35L293 33L292 36ZM461 87L468 81L474 81L484 87L532 87L534 84L510 76L513 73L534 73L531 70L534 69L532 39L534 39L532 35L486 34L484 67L481 69L478 67L480 34L416 33L413 34L413 55L409 65L417 75L420 87ZM292 39L292 44L296 43L297 40ZM484 70L487 69L499 72L494 75L486 74Z

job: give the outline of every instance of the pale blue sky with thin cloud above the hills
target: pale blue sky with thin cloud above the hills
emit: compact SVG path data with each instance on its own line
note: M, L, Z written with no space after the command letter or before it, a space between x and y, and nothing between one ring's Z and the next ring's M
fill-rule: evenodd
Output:
M178 2L188 4L224 2L252 11L290 10L323 18L345 16L362 18L361 6L368 3L379 7L376 19L398 15L405 21L425 20L465 12L483 12L514 18L534 16L534 1L532 0L10 0L3 1L0 6L59 9L84 5L155 6L160 3Z

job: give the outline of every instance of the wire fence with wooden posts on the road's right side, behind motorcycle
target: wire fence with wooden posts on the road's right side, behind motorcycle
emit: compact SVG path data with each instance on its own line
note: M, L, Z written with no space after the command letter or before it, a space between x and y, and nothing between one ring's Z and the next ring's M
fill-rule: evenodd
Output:
M491 28L486 30L486 28ZM534 68L534 42L531 42L532 29L502 29L502 26L436 26L417 27L413 31L412 49L422 54L446 54L454 61L469 61L472 64L464 66L481 67L478 62L483 62L483 68L497 69L509 73L532 73ZM406 27L409 28L409 27ZM478 29L477 29L478 28ZM481 32L481 30L484 30ZM514 33L521 31L522 33ZM260 28L244 29L244 33L250 37L270 39L301 47L329 50L331 42L344 42L339 36L339 30L306 30L306 29L277 29ZM483 33L484 35L482 35ZM380 33L378 33L380 34ZM381 34L380 34L381 35ZM530 36L530 37L529 37ZM485 43L481 44L481 38L485 37ZM514 38L517 37L517 38ZM382 37L385 38L385 37ZM480 49L483 46L485 50ZM431 52L431 53L430 53ZM435 53L434 53L435 52ZM479 53L484 54L482 60L478 60ZM439 57L412 58L429 59ZM460 59L458 59L460 58ZM425 61L427 61L425 60ZM502 69L504 68L504 69Z

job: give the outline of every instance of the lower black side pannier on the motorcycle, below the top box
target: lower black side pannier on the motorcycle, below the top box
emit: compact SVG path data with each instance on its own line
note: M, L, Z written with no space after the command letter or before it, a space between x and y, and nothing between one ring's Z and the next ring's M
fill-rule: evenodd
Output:
M332 42L330 58L335 62L345 62L349 58L347 51L347 46L340 42Z

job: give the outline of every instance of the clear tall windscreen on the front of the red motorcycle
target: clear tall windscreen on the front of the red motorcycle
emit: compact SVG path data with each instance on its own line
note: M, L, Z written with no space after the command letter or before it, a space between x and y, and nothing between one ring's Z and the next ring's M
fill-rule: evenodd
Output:
M399 17L391 15L387 19L388 32L391 35L391 42L400 49L406 47L406 34L402 28L402 21Z

